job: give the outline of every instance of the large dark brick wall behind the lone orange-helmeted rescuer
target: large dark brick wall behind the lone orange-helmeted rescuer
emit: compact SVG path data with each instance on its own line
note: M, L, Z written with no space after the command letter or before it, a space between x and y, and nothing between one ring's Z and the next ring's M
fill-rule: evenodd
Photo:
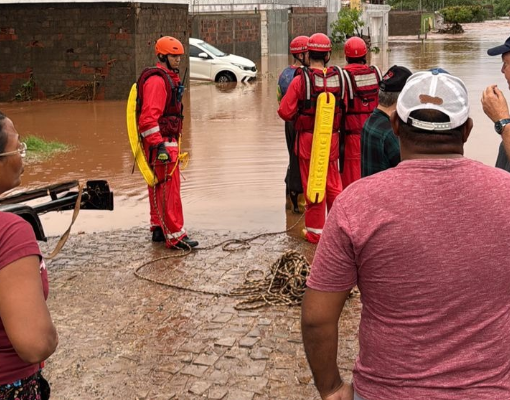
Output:
M187 15L187 5L172 4L0 4L0 101L31 75L34 98L124 99L154 65L155 40L187 46Z

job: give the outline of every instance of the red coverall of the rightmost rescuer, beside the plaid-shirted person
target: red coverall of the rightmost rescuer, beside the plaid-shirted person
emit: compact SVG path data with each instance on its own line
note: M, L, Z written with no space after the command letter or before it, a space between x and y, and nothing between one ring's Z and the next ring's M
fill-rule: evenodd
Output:
M364 64L347 64L343 69L346 71L370 71L370 67ZM361 178L361 130L377 104L378 102L363 104L356 97L354 104L349 104L345 117L344 169L341 174L344 189Z

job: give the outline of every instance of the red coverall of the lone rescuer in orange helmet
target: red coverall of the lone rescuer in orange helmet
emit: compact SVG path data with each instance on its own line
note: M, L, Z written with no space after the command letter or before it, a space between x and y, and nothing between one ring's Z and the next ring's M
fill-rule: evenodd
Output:
M162 64L158 68L164 69L172 78L175 86L180 83L179 75L169 71ZM159 118L165 110L167 96L166 85L162 77L151 76L143 87L142 110L138 119L138 132L143 137L145 156L151 167L156 159L157 146L165 143L171 162L156 161L155 174L158 184L149 188L150 224L151 231L161 227L166 236L167 246L177 244L186 236L184 230L184 216L181 202L181 176L179 172L179 147L176 137L162 137L158 124ZM166 172L166 177L165 177Z

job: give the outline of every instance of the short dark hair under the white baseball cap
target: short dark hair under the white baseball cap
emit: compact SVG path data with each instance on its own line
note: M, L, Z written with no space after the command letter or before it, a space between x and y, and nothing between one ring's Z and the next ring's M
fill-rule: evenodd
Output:
M448 115L438 110L415 110L411 112L410 117L424 122L450 121ZM446 147L451 148L451 146L462 146L464 144L462 135L464 124L447 131L427 131L409 125L407 121L404 122L400 119L399 136L400 140L431 151L431 153L442 153Z

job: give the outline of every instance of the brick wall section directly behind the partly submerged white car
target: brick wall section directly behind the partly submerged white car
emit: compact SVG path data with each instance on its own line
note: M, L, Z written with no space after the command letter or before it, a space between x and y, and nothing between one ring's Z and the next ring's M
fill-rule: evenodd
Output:
M260 58L260 14L199 14L191 17L191 37L205 40L225 53Z

